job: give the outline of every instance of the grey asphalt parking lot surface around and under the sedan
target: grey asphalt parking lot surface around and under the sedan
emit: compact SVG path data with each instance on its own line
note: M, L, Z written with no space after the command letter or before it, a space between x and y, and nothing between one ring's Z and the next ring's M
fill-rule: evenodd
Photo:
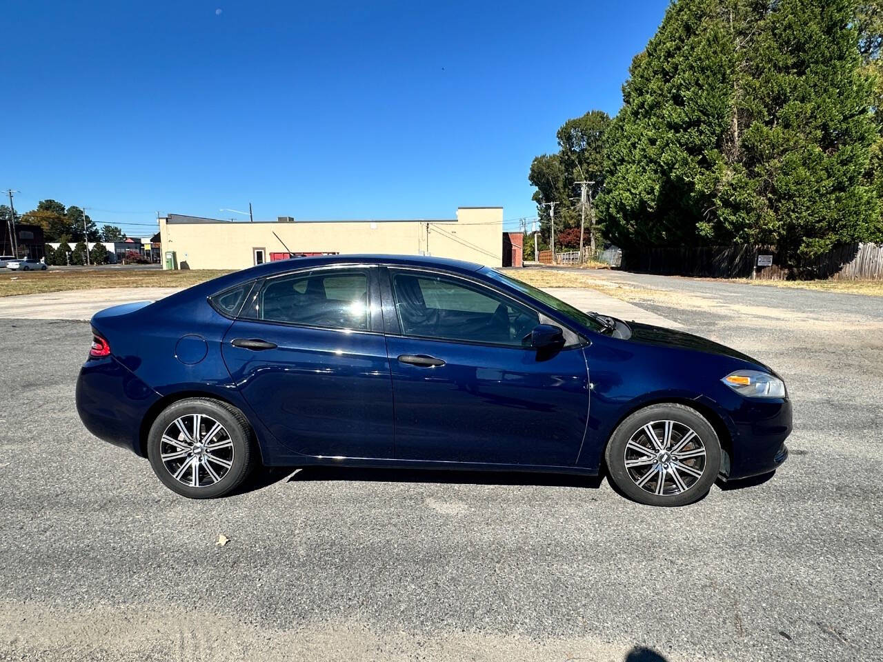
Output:
M185 500L79 423L87 323L0 320L0 659L878 660L883 298L684 282L640 305L773 365L796 426L675 509L343 469Z

